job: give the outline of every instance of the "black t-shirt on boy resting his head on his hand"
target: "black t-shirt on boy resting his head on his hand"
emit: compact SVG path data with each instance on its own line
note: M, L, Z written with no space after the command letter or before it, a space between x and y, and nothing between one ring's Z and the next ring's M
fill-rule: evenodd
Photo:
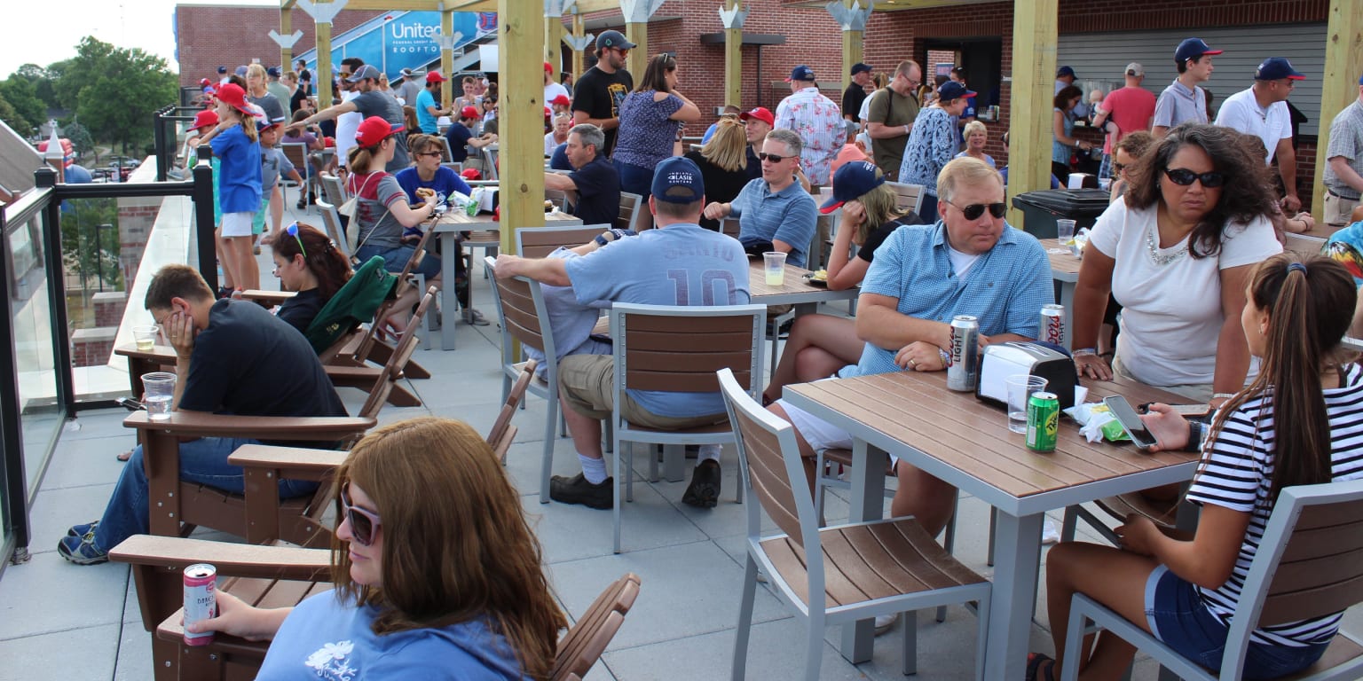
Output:
M213 304L209 328L194 340L180 409L262 417L346 415L308 339L260 305L233 300Z

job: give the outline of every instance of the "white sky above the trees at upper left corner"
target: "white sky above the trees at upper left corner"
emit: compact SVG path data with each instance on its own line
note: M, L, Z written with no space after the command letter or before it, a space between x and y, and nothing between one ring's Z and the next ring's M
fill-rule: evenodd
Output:
M278 0L11 0L18 8L0 29L0 79L8 78L22 64L48 65L76 54L76 44L86 35L119 48L142 48L165 57L170 71L174 61L174 5L237 4L278 7ZM50 8L53 12L44 12ZM16 20L14 20L16 19Z

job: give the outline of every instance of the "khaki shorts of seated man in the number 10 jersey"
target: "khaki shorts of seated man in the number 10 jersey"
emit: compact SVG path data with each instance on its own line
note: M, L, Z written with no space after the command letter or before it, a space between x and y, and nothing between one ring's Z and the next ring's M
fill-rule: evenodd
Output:
M615 357L609 354L570 354L559 360L559 388L563 402L578 414L611 418L615 409ZM728 414L701 417L664 417L639 406L628 394L620 414L632 425L657 430L682 430L728 421Z

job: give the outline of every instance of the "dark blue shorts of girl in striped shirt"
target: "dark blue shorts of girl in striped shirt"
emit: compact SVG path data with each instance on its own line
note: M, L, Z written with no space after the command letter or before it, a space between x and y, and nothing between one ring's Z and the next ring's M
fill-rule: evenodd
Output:
M1154 568L1145 583L1145 621L1156 639L1184 658L1213 671L1221 669L1229 627L1202 605L1191 583L1165 565ZM1292 647L1250 642L1244 678L1269 680L1300 671L1319 659L1328 647L1329 643Z

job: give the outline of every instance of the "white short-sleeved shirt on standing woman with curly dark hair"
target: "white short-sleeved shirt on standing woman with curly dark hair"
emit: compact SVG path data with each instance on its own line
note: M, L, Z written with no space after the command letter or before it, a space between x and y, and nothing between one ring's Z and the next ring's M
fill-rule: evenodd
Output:
M1099 215L1089 233L1089 247L1116 260L1112 296L1122 304L1122 332L1116 354L1131 375L1148 385L1204 385L1216 373L1216 346L1221 334L1221 270L1254 264L1283 252L1273 225L1259 217L1249 225L1223 232L1216 256L1194 259L1186 253L1168 264L1156 264L1146 234L1156 230L1156 208L1129 210L1114 202ZM1189 240L1163 248L1168 255ZM1257 373L1250 366L1250 376Z

